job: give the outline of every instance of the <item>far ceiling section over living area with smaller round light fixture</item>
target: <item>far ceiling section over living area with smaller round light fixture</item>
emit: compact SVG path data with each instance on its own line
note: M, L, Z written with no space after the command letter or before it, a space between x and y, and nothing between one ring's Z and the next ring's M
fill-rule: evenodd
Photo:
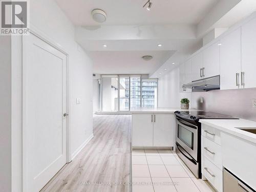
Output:
M91 51L93 73L98 74L150 74L158 69L175 51ZM149 61L144 55L152 55Z

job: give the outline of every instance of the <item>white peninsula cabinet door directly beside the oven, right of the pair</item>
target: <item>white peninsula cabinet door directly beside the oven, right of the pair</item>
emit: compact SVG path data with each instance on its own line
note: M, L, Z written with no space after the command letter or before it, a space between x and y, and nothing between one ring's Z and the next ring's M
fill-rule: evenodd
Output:
M154 114L154 146L174 146L174 115Z

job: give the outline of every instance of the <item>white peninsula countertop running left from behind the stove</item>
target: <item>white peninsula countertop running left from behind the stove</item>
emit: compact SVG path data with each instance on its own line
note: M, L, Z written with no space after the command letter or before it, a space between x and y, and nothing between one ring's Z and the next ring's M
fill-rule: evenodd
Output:
M134 108L130 113L174 113L176 111L200 111L195 109L182 110L180 108Z

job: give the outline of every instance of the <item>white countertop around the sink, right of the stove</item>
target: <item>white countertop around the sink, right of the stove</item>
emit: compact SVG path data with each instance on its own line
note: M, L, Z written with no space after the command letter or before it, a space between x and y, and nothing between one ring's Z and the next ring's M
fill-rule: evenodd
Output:
M240 137L247 141L256 143L256 134L249 133L236 127L256 128L256 121L246 119L200 119L199 122L208 126L215 127L218 130Z

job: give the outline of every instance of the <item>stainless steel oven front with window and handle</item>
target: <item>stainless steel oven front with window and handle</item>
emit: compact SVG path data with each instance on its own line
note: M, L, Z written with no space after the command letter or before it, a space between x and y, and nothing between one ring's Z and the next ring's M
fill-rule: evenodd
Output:
M199 127L176 118L176 153L197 178L201 178Z

